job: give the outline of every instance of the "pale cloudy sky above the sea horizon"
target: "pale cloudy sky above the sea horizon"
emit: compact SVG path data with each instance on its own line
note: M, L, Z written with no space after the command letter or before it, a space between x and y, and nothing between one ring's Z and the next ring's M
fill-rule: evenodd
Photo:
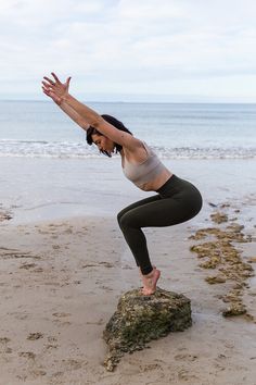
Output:
M0 0L0 99L256 102L255 0Z

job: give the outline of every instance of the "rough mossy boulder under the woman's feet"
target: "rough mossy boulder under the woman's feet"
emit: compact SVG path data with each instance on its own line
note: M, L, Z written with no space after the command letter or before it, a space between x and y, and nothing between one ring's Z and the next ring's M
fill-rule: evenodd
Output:
M183 295L158 287L152 296L143 296L141 289L127 291L103 332L108 345L106 370L113 371L124 353L142 350L152 339L182 332L191 324L190 299Z

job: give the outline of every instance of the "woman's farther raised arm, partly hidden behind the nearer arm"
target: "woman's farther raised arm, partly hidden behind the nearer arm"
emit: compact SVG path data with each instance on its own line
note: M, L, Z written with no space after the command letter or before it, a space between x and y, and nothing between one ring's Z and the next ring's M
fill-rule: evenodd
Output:
M44 77L47 80L50 80L48 77ZM61 86L63 90L67 90L69 88L71 77L66 79L66 83L62 83ZM69 107L65 101L62 101L55 94L51 92L48 88L48 83L42 80L42 90L49 98L51 98L59 107L65 112L75 123L77 123L82 129L87 131L90 124L79 115L72 107Z

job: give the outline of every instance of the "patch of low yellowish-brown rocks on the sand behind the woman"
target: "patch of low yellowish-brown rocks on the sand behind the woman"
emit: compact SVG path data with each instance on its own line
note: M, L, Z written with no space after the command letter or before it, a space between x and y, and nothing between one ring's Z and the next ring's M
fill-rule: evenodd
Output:
M220 209L226 207L229 207L229 203L228 206L226 203L221 204ZM240 210L235 210L235 212L239 213ZM230 219L220 210L213 213L210 219L213 222L221 224L221 228L215 226L197 229L194 235L190 236L190 239L205 239L206 241L192 245L190 250L196 252L199 259L203 259L200 263L201 268L216 269L216 275L205 278L207 283L213 285L227 281L233 282L232 286L236 291L229 291L221 296L223 302L232 303L222 314L225 316L245 314L246 309L243 305L242 291L245 287L248 287L245 281L255 275L252 264L256 262L256 258L251 257L244 261L242 250L238 248L236 244L252 243L254 238L251 234L242 233L244 225L235 223L236 218ZM223 222L229 223L223 226Z

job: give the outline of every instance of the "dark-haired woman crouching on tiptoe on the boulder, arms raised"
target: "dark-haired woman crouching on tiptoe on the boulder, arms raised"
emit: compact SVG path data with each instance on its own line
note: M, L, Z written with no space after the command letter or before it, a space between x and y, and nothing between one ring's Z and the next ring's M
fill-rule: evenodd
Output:
M200 191L189 182L174 175L159 161L152 149L135 138L124 124L110 115L99 115L80 103L69 92L71 77L61 83L43 77L42 90L79 126L87 131L87 141L94 144L101 152L111 157L118 152L121 157L124 174L144 191L157 194L132 203L121 210L118 224L136 259L143 283L142 294L152 295L161 276L152 266L146 239L141 228L171 226L189 221L202 208Z

